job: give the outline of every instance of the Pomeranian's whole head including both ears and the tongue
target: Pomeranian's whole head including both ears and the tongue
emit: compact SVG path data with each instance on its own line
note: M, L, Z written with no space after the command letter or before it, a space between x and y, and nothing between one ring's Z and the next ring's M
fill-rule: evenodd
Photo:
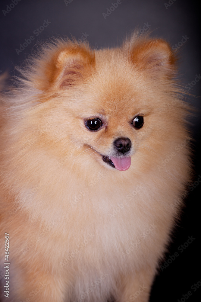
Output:
M152 148L164 135L169 122L164 91L174 66L166 42L96 52L72 43L57 50L52 62L46 67L47 90L61 96L57 106L63 118L66 114L68 144L70 138L80 154L127 170L140 147ZM58 127L63 132L61 120Z

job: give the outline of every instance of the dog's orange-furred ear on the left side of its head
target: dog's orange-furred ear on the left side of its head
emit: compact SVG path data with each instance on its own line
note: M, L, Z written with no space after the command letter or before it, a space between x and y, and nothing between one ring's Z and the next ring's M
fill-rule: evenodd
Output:
M87 43L68 41L66 45L63 42L58 48L45 51L44 47L43 59L38 61L43 78L36 79L37 88L43 91L69 89L80 81L86 81L94 69L95 52ZM40 77L39 71L37 74Z

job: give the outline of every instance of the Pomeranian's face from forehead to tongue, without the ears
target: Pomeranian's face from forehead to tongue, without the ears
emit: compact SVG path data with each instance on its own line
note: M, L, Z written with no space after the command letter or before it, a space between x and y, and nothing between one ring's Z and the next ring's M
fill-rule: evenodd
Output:
M76 112L73 123L77 131L73 131L72 139L105 167L127 170L147 128L150 131L146 120L153 106L143 100L142 92L136 88L136 75L129 64L122 62L124 69L120 72L117 63L110 62L110 55L106 68L101 66L102 75L95 74L77 94L75 102L79 106L72 110L72 115ZM129 69L132 76L127 75Z

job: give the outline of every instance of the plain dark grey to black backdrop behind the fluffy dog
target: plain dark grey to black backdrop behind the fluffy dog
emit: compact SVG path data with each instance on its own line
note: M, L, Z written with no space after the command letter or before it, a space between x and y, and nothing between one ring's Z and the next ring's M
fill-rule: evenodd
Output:
M14 1L16 2L16 0ZM147 24L147 22L151 25L152 34L168 40L171 46L178 44L183 35L189 38L178 49L181 56L179 70L184 85L191 83L196 75L201 73L199 2L170 0L169 3L172 4L166 8L165 3L168 4L168 1L163 0L122 0L121 4L104 18L102 13L106 13L107 8L111 7L111 3L115 2L116 0L73 0L66 6L63 0L21 0L4 16L3 10L6 10L7 5L12 2L11 0L1 1L0 73L8 70L11 75L14 74L14 65L20 65L24 58L37 49L36 45L39 41L49 37L57 35L71 37L73 35L80 39L82 33L86 33L89 35L87 40L92 46L112 47L121 43L125 35L136 26L143 28L144 23ZM39 28L44 20L51 23L36 37L33 31ZM35 39L17 55L16 49L19 49L20 44L23 44L25 39L29 39L31 35ZM190 92L199 96L200 82L196 82ZM199 98L191 97L189 101L196 108L200 108ZM196 140L194 159L194 180L196 181L198 175L201 174L199 115L193 118L192 124ZM200 191L200 185L194 188L186 200L187 207L184 209L182 223L174 232L174 242L170 246L167 257L173 255L177 248L187 241L188 236L196 239L165 270L159 271L150 301L169 302L178 301L178 299L180 301L181 298L184 299L183 294L192 291L191 286L201 279L198 268L200 262L200 228L198 225L200 219L197 209L200 198L198 190ZM193 292L188 301L198 301L200 293L201 288L197 289L195 293Z

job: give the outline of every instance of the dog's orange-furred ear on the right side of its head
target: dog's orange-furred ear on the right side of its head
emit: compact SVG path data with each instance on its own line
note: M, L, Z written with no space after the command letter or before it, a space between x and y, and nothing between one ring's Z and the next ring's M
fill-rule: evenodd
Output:
M130 59L137 69L144 69L153 76L174 73L176 57L165 40L139 38L129 48Z

